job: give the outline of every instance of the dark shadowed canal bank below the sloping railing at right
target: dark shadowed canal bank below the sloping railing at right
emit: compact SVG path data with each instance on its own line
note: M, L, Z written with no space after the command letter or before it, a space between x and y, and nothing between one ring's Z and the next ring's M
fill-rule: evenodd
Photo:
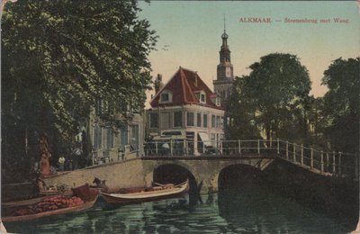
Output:
M264 180L289 199L314 211L358 219L358 182L337 176L311 173L282 159L275 159L264 171Z

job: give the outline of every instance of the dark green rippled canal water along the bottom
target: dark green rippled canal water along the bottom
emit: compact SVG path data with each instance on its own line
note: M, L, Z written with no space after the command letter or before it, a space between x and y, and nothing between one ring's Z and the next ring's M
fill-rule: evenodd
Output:
M227 188L159 202L113 206L42 220L5 223L15 233L349 233L354 219L331 217L266 186Z

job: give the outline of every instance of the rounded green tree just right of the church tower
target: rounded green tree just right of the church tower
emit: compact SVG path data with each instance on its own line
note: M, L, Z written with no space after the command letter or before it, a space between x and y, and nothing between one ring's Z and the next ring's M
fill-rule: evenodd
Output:
M251 103L266 139L304 136L311 81L306 67L291 54L273 53L250 66L240 103ZM299 132L298 134L296 132Z

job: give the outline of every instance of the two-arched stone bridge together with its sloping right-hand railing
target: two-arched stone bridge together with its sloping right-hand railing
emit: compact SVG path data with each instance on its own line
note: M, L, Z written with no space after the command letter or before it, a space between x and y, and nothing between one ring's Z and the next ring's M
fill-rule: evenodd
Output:
M202 192L217 191L219 175L229 166L252 166L262 171L275 158L300 166L311 173L324 176L356 175L356 165L342 153L317 151L283 140L266 142L254 140L220 142L218 155L202 156L142 156L127 157L121 161L109 162L97 166L89 166L75 171L61 172L44 178L46 184L67 184L70 187L81 184L93 184L94 177L106 180L111 187L149 186L156 180L156 175L166 169L166 176L176 179L176 171L182 171L192 184L202 183ZM238 146L238 147L237 147ZM170 168L170 169L169 169ZM356 177L356 176L355 176ZM184 178L185 179L185 178Z

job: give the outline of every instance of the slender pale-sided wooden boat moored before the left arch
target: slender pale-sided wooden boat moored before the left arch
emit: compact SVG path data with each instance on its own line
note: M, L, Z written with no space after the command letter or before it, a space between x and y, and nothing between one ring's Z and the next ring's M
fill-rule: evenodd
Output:
M142 190L125 192L122 190L121 193L103 193L100 192L103 199L109 203L132 203L132 202L149 202L157 201L166 198L172 198L187 193L189 190L189 180L186 180L181 184L157 184L149 188L143 188ZM126 190L126 189L125 189Z

